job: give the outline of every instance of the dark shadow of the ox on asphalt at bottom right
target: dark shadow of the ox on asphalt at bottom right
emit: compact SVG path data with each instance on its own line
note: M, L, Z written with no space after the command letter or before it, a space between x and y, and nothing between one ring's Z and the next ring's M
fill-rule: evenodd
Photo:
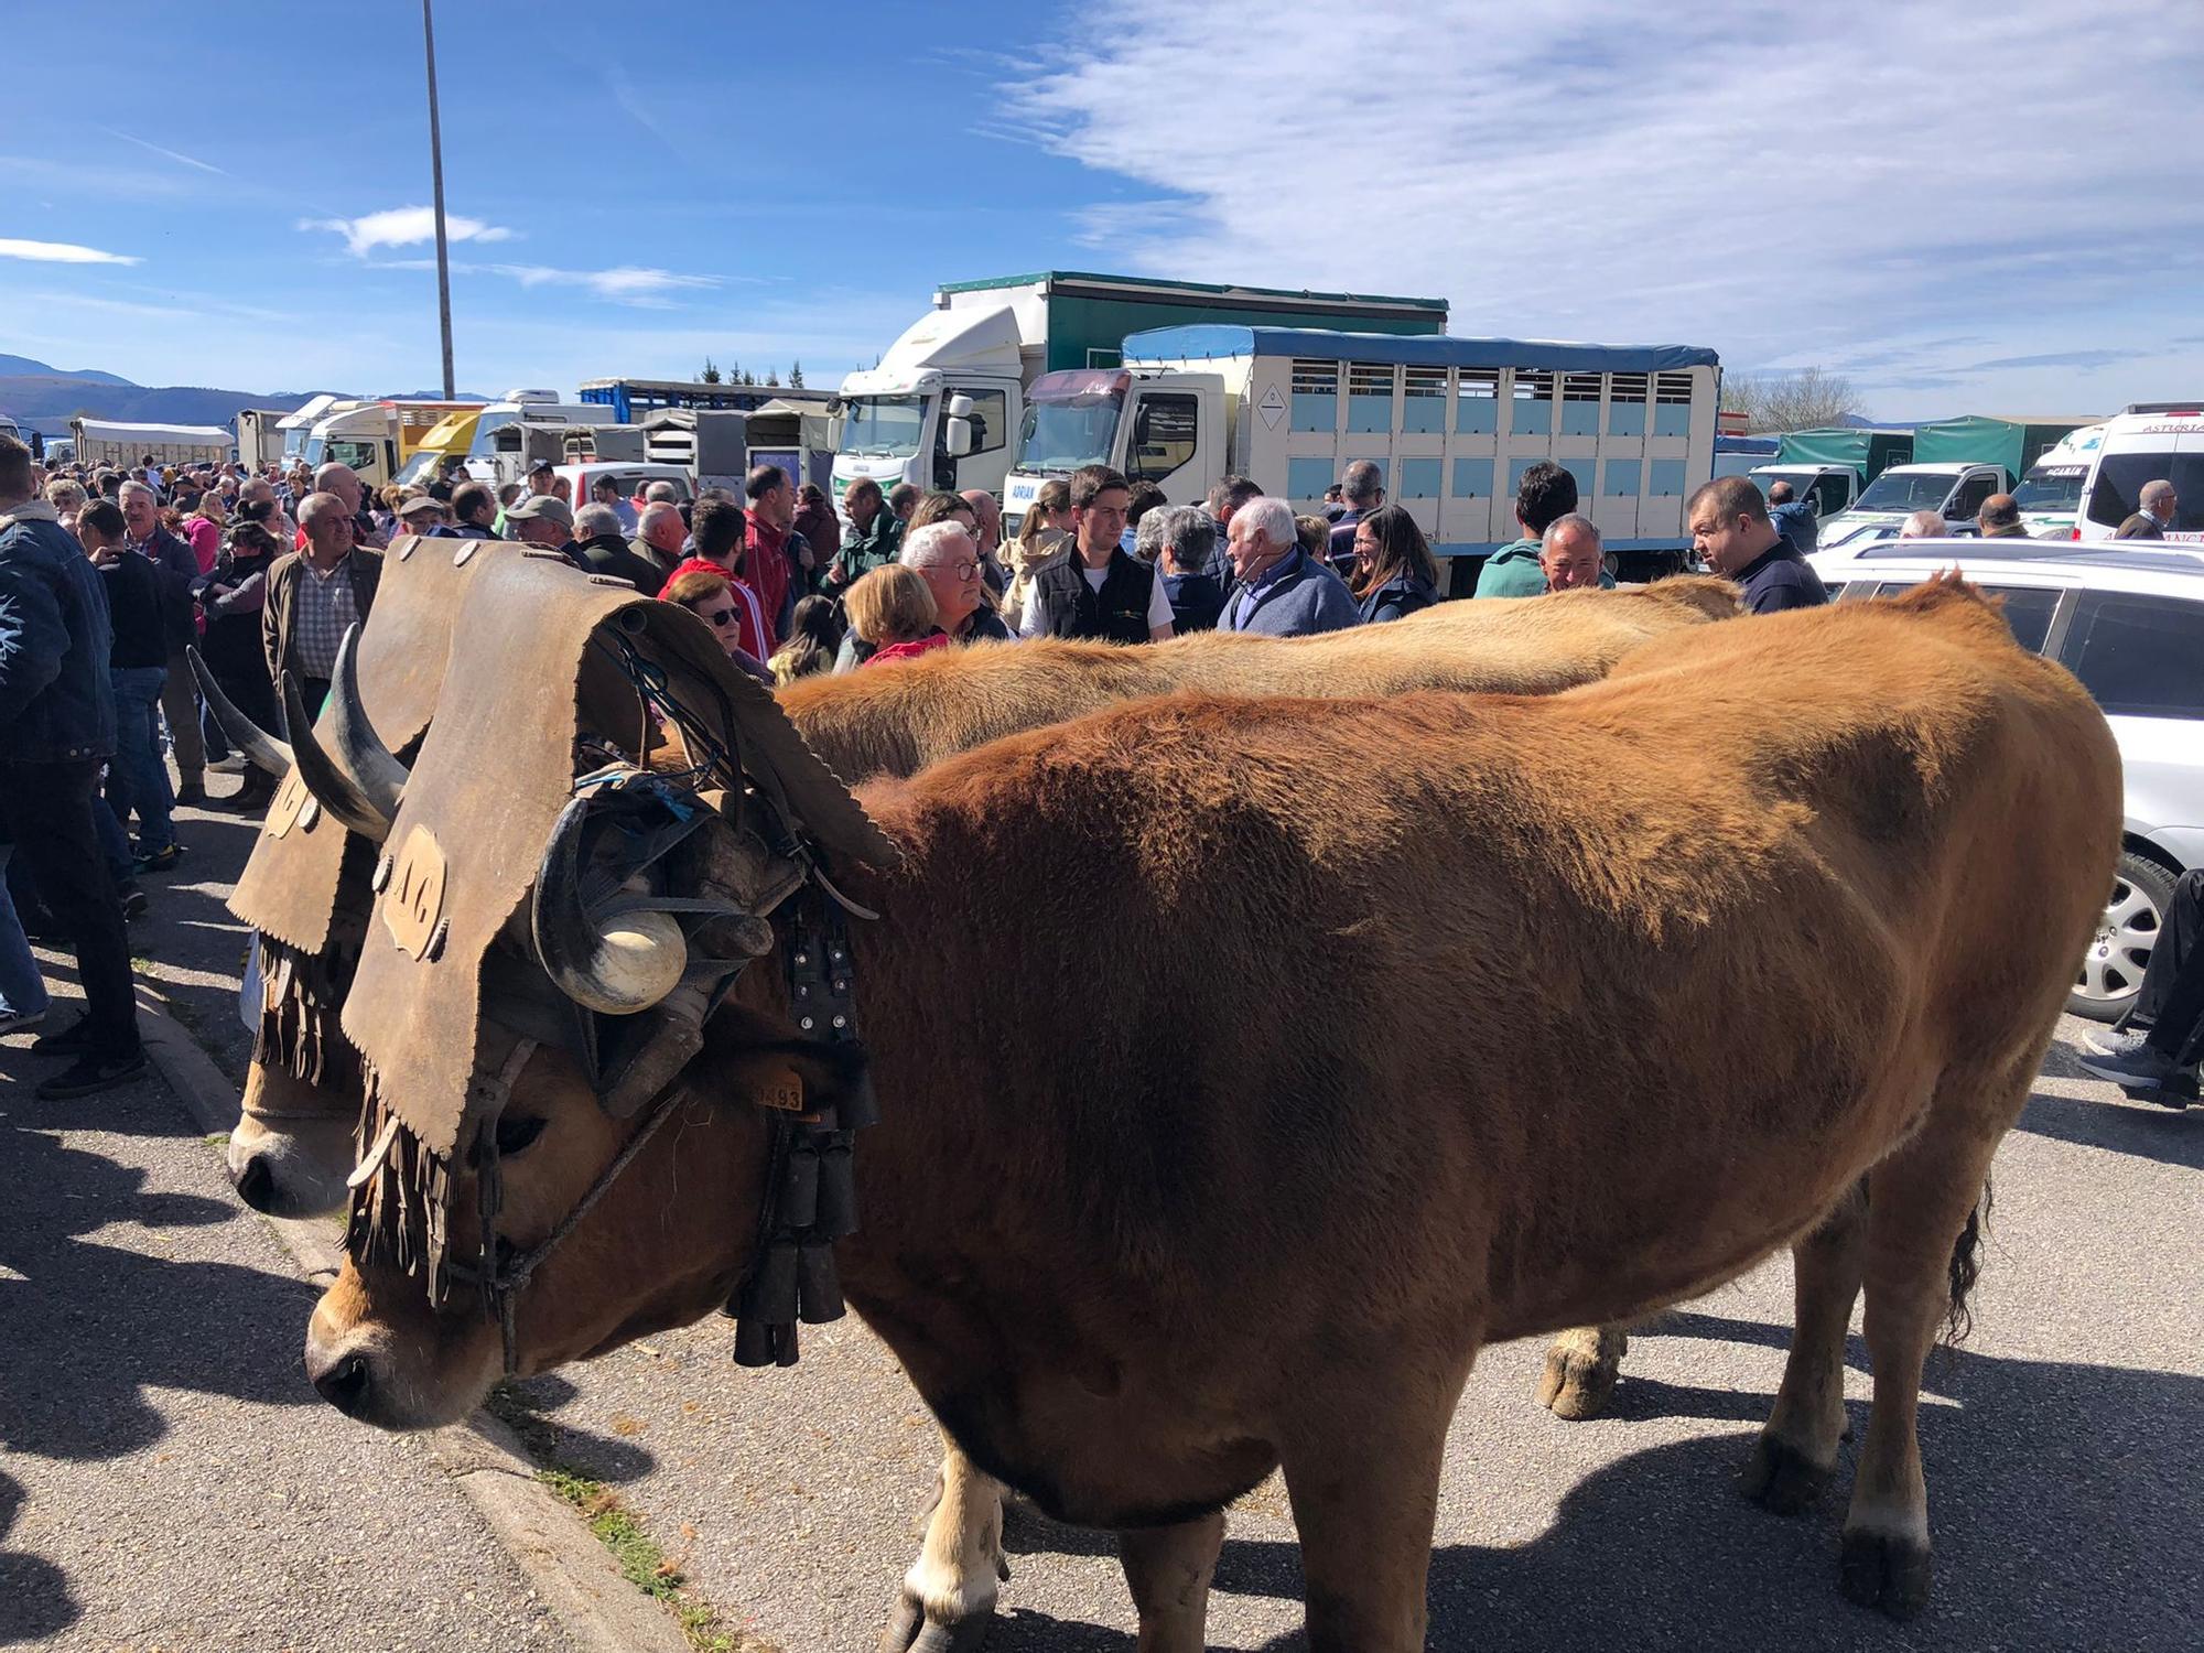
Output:
M1695 1333L1708 1336L1699 1320ZM1739 1329L1781 1338L1776 1327ZM1856 1446L1816 1510L1781 1519L1737 1494L1750 1441L1710 1435L1591 1474L1527 1545L1435 1552L1430 1646L2193 1646L2204 1613L2191 1543L2204 1521L2204 1380L1966 1351L1944 1360L1955 1404L1922 1406L1937 1578L1920 1620L1893 1624L1838 1593ZM1679 1397L1701 1415L1695 1391L1671 1391ZM1772 1402L1741 1400L1713 1411L1759 1419ZM1865 1411L1854 1406L1854 1441ZM1217 1589L1298 1600L1298 1549L1228 1536ZM1298 1646L1298 1631L1270 1642L1281 1653Z

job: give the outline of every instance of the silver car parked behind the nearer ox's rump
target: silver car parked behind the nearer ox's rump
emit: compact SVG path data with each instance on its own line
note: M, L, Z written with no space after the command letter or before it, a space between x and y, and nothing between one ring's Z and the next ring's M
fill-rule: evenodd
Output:
M2138 549L2125 549L2125 547ZM1878 597L1957 566L2096 696L2127 771L2120 873L2067 1007L2118 1020L2142 990L2173 879L2204 866L2204 553L2149 540L1893 540L1809 558L1832 597Z

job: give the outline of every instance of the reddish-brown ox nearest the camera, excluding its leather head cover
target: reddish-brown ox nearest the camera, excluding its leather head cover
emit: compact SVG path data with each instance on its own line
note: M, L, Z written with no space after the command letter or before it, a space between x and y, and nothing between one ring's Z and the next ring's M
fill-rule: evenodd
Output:
M853 890L886 910L855 932L884 1122L844 1289L974 1461L1124 1530L1144 1649L1201 1646L1219 1512L1274 1466L1311 1649L1419 1649L1477 1349L1794 1241L1752 1483L1787 1505L1834 1470L1865 1281L1843 1585L1922 1605L1922 1360L2120 831L2103 719L1968 588L1666 639L1552 699L1144 703L868 804L904 860ZM1516 983L1534 943L1552 968ZM1510 1014L1422 1014L1441 974L1508 979ZM1005 1018L1067 976L1047 1038ZM1340 990L1278 992L1305 981ZM602 1192L518 1298L520 1371L727 1300L791 1034L752 972L681 1128L611 1181L635 1122L564 1056L518 1069L505 1239ZM355 1256L306 1360L412 1428L483 1397L500 1338Z

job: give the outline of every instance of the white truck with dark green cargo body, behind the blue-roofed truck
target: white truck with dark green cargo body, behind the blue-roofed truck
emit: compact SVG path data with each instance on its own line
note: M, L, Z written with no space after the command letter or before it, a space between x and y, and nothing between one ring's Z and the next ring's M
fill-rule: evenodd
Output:
M1128 333L1195 322L1435 335L1446 300L1076 271L948 282L879 366L842 381L835 509L857 478L1001 494L1034 379L1115 368Z

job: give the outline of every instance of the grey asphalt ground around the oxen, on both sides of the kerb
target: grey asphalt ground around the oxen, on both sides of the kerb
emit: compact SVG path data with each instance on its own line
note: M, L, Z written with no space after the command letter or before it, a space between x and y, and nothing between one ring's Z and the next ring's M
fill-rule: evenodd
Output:
M185 835L196 862L156 890L134 934L156 959L152 974L172 1007L214 1042L225 1069L240 1071L240 937L220 895L251 829L187 815ZM1999 1153L1975 1331L1929 1362L1922 1448L1937 1582L1920 1620L1891 1624L1838 1596L1836 1541L1856 1444L1838 1485L1805 1516L1763 1514L1735 1490L1790 1336L1790 1267L1779 1261L1638 1336L1613 1415L1600 1422L1565 1424L1532 1404L1543 1349L1485 1353L1448 1452L1430 1644L2197 1646L2204 1109L2169 1113L2083 1078L2072 1062L2083 1029L2061 1025L2021 1128ZM278 1578L304 1589L331 1576L346 1543L383 1543L388 1532L417 1549L399 1574L372 1558L355 1565L364 1587L339 1600L359 1640L298 1646L538 1644L525 1638L542 1633L540 1622L527 1618L525 1598L507 1593L511 1580L496 1582L478 1523L439 1499L436 1477L390 1455L401 1444L311 1404L298 1375L311 1294L267 1254L264 1230L234 1212L212 1150L163 1135L176 1117L161 1124L159 1093L68 1104L64 1120L18 1102L24 1091L4 1089L9 1078L20 1078L11 1054L0 1056L0 1098L7 1128L29 1142L4 1159L0 1195L11 1203L0 1206L0 1234L37 1236L33 1261L46 1278L60 1281L60 1261L75 1258L86 1272L84 1303L104 1307L66 1292L60 1307L40 1307L33 1342L51 1344L46 1371L22 1371L7 1305L40 1276L15 1256L0 1258L15 1270L0 1276L4 1474L29 1490L20 1508L0 1505L0 1525L13 1519L0 1547L15 1552L0 1560L0 1602L22 1596L9 1587L24 1578L31 1600L57 1602L42 1611L57 1616L48 1629L60 1644L82 1635L86 1646L148 1646L150 1631L119 1627L159 1600L183 1613L194 1576L207 1611L245 1589L258 1591L262 1613L278 1613L293 1600ZM82 1217L53 1206L77 1181L95 1201ZM15 1230L18 1212L48 1206L55 1214ZM176 1267L194 1272L176 1276ZM730 1344L732 1325L707 1320L522 1384L520 1400L538 1415L531 1439L613 1483L730 1627L789 1653L871 1649L917 1547L912 1521L937 1463L932 1426L855 1320L807 1327L793 1371L741 1371ZM1851 1366L1858 1435L1867 1400L1858 1338ZM26 1384L88 1400L117 1422L86 1424L86 1408L62 1400L26 1408ZM101 1455L99 1441L112 1450ZM170 1470L185 1490L161 1497L159 1452L185 1459L194 1474L205 1463L205 1485L190 1488L194 1474ZM128 1472L90 1477L90 1461ZM88 1485L95 1479L123 1490ZM22 1490L0 1483L0 1499L20 1501ZM295 1508L282 1505L273 1521L282 1490ZM37 1514L53 1499L71 1505L60 1523ZM403 1516L386 1516L401 1508ZM258 1530L245 1527L245 1510L260 1512ZM121 1534L152 1532L163 1538L143 1538L145 1556L132 1560L126 1545L134 1538ZM298 1536L304 1549L256 1574L249 1552L271 1532ZM1014 1576L990 1653L1131 1644L1133 1611L1106 1534L1014 1514L1007 1545ZM154 1565L163 1554L168 1569ZM478 1591L467 1605L476 1631L421 1640L443 1633L421 1602L461 1602L452 1591L463 1587ZM1212 1646L1298 1646L1298 1596L1292 1519L1270 1483L1230 1516ZM0 1642L9 1611L20 1609L0 1605ZM24 1631L48 1633L26 1622L15 1640ZM262 1642L218 1644L291 1642L271 1631Z

